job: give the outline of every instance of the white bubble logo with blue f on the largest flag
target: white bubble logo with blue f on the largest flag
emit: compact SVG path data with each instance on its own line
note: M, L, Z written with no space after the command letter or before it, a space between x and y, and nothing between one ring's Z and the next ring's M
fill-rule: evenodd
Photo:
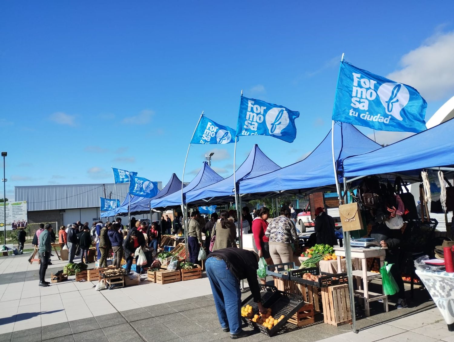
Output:
M380 97L381 104L385 107L386 113L402 121L400 110L407 105L410 99L410 94L405 85L391 82L384 83L380 85L377 94Z

